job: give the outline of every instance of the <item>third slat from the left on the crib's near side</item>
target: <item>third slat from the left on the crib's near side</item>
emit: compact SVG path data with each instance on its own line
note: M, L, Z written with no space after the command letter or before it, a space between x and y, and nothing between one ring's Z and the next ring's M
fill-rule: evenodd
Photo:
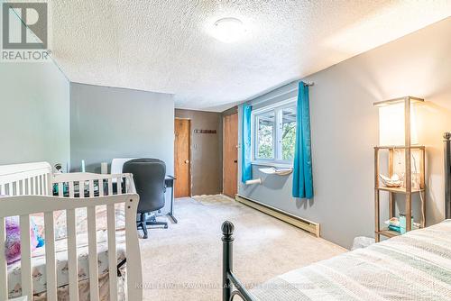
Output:
M44 214L45 269L47 274L47 300L57 301L57 276L55 260L55 230L53 212Z

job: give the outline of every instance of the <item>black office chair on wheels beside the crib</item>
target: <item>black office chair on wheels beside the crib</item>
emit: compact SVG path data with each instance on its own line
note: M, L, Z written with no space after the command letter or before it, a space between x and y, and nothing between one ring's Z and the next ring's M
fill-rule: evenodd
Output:
M136 226L138 230L143 229L143 238L147 238L148 225L162 225L167 229L168 223L157 222L156 214L147 218L147 214L164 207L166 164L157 159L135 159L125 162L123 172L133 174L134 186L140 196Z

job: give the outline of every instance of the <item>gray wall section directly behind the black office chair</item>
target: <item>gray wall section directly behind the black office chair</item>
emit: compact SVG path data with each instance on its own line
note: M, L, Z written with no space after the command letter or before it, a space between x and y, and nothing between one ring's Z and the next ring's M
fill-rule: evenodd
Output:
M173 97L71 83L70 141L72 171L80 169L81 160L87 171L98 172L101 162L146 157L163 160L173 175Z

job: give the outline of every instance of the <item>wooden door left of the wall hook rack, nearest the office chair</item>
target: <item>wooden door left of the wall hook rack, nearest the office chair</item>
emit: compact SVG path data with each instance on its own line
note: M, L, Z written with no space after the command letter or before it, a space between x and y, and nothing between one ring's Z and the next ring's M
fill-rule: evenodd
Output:
M175 119L175 186L174 196L183 197L191 195L191 177L190 177L190 152L189 152L189 132L190 121L188 119Z

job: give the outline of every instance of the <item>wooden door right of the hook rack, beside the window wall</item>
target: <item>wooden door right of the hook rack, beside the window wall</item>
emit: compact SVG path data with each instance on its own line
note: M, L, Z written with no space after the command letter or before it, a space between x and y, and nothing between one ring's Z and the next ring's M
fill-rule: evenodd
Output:
M223 191L235 198L238 193L238 114L224 117Z

